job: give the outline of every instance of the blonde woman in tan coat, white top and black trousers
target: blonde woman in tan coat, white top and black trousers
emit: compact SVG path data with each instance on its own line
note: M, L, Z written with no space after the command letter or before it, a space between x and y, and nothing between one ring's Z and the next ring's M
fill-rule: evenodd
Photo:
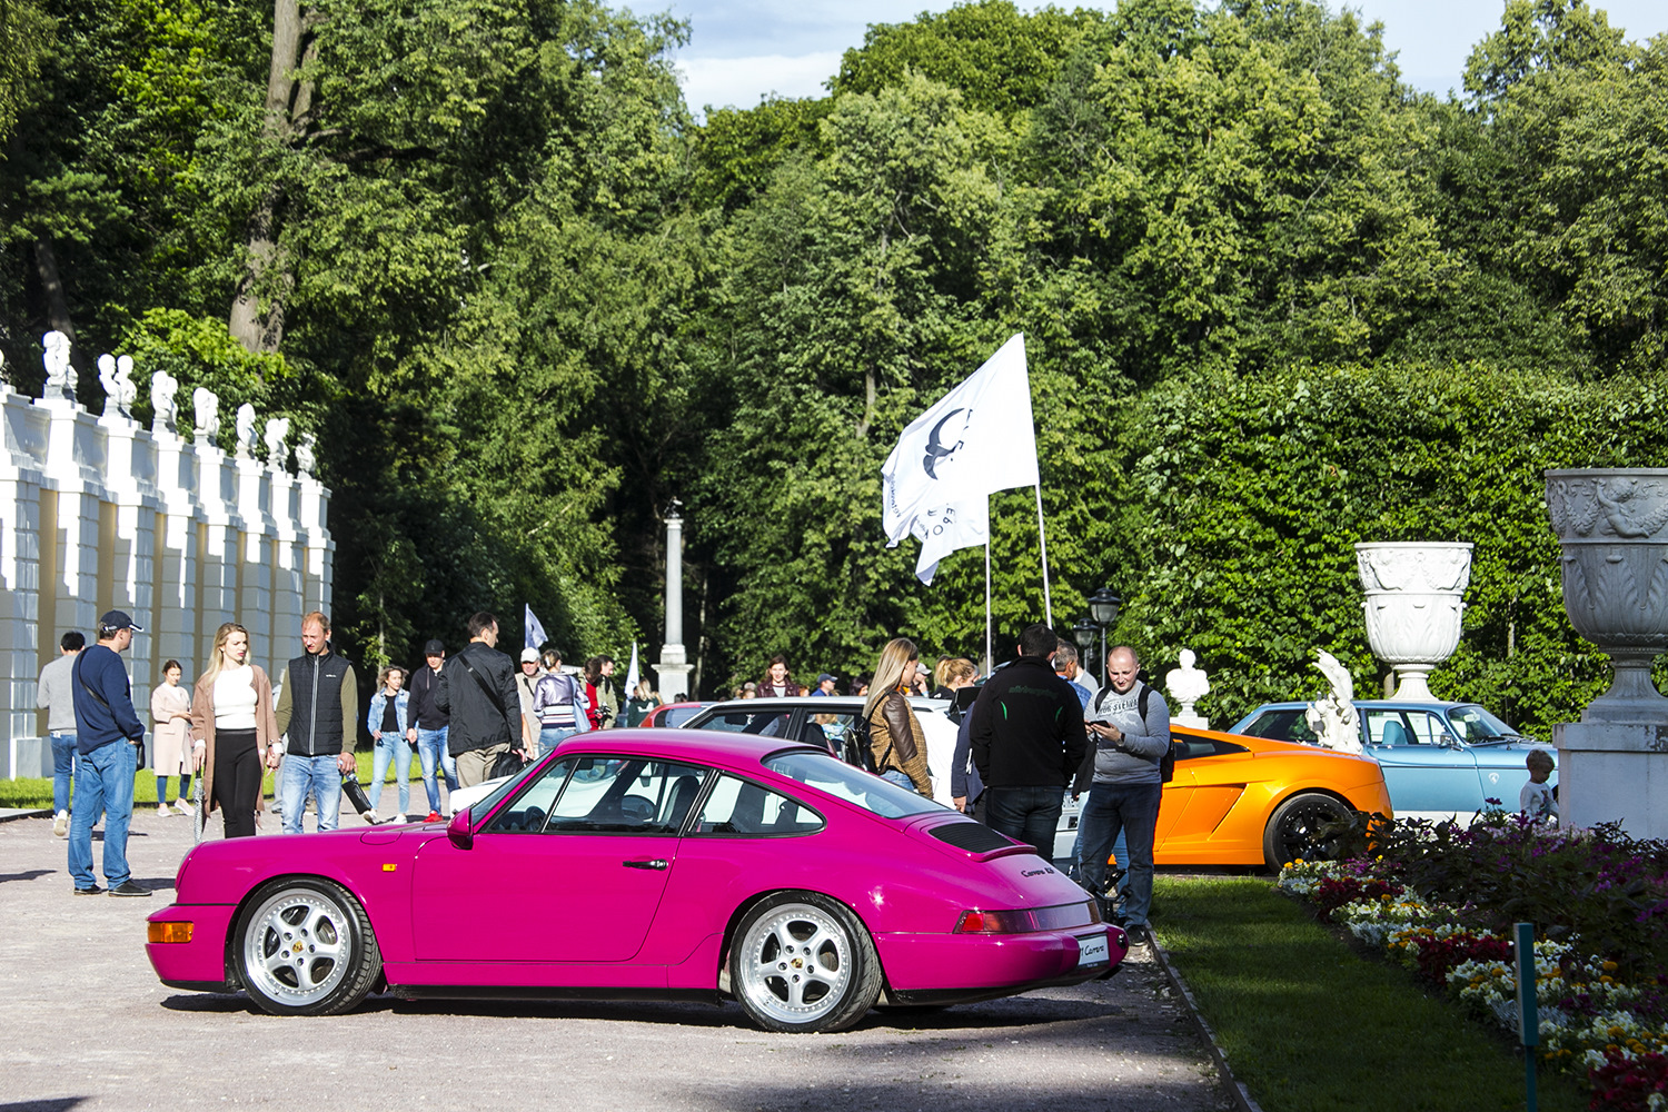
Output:
M225 837L254 837L255 814L265 802L264 769L279 767L279 722L272 680L249 664L249 630L237 622L225 622L214 635L208 667L192 694L192 737L208 810L220 809Z

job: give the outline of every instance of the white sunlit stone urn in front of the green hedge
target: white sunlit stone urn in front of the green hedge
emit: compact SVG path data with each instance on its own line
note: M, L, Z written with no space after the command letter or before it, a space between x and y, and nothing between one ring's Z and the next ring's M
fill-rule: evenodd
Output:
M1384 540L1356 545L1366 639L1396 670L1396 699L1434 700L1426 677L1460 645L1471 545Z

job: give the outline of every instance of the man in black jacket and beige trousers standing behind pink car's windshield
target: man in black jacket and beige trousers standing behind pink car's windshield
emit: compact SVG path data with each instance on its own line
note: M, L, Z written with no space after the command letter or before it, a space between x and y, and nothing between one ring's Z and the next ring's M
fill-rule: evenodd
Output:
M440 670L434 694L435 705L452 715L445 747L464 787L492 779L494 762L510 749L532 752L515 669L497 644L499 620L485 612L470 615L469 644Z

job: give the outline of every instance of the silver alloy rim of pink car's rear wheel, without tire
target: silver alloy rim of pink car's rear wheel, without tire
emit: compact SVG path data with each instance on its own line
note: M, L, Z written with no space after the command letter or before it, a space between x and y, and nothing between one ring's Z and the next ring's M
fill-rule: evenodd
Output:
M739 995L782 1024L814 1024L846 999L852 940L846 925L811 904L782 904L741 939Z

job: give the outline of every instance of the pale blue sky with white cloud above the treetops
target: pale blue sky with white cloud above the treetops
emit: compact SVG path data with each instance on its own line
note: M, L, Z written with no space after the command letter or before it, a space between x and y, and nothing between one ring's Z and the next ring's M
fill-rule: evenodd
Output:
M1089 0L1056 0L1058 7L1094 7ZM677 55L684 100L699 115L706 105L751 107L761 97L821 97L839 70L841 55L861 47L869 23L902 23L922 10L942 12L946 0L637 0L639 12L664 10L692 25L691 43ZM1032 10L1034 0L1019 0ZM1114 7L1103 3L1099 7ZM1438 95L1461 90L1471 47L1500 25L1503 0L1353 0L1368 22L1384 23L1384 45L1398 52L1401 78ZM1645 42L1668 30L1663 0L1596 0L1611 27Z

